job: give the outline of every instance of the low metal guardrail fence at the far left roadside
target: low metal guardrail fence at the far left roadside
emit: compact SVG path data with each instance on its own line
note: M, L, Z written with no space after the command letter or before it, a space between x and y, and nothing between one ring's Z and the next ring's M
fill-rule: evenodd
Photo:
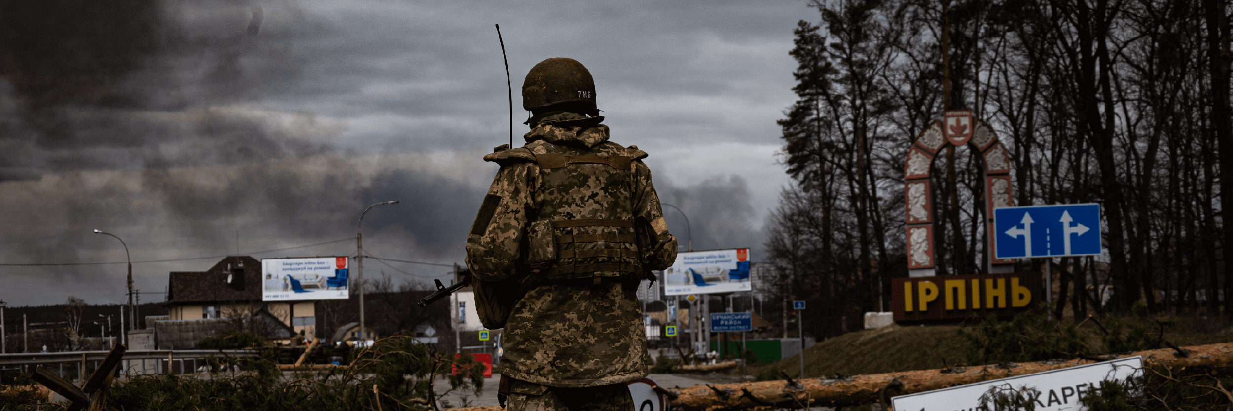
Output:
M120 374L189 374L205 365L211 357L256 357L252 349L149 349L125 353ZM0 354L0 372L16 370L30 374L33 365L42 365L65 380L83 381L99 363L107 357L106 351L73 351L62 353Z

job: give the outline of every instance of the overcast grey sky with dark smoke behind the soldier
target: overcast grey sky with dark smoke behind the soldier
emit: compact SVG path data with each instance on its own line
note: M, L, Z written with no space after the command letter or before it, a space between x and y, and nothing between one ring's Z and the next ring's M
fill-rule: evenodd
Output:
M63 4L57 6L55 4ZM788 184L776 153L794 95L774 1L84 0L0 12L0 263L355 253L461 263L508 142L499 23L514 83L570 57L612 139L637 144L682 246L753 248ZM237 243L238 237L238 243ZM260 251L346 239L307 248ZM218 258L138 263L136 288ZM395 283L446 268L365 262ZM125 300L125 265L0 267L10 305ZM142 296L160 301L162 294Z

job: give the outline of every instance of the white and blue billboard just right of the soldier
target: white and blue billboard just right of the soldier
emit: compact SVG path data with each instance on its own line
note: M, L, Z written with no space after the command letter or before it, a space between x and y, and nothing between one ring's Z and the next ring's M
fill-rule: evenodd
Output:
M750 249L711 249L677 253L663 270L663 294L750 291Z

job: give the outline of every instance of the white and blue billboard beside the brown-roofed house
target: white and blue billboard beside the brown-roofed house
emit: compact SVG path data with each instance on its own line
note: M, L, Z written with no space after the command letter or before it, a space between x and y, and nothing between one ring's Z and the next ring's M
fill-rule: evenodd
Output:
M346 257L263 258L261 301L346 300Z

